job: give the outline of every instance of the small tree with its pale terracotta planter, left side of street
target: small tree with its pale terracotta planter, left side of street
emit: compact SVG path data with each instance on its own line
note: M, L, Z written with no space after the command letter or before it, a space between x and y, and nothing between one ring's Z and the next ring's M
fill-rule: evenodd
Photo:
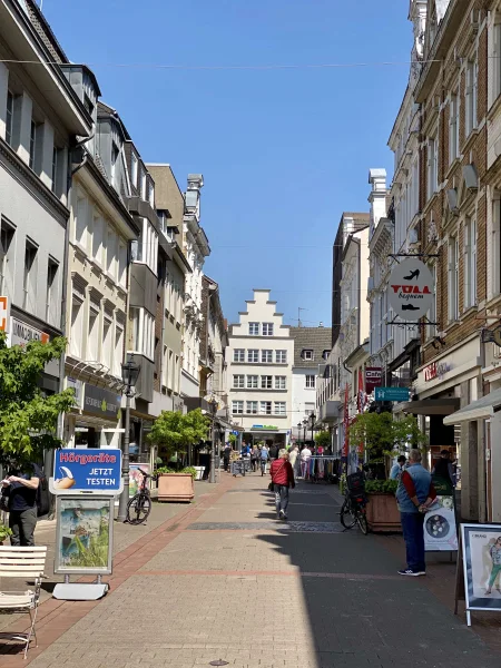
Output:
M180 411L163 411L155 421L148 439L158 446L164 461L176 453L183 454L193 443L206 439L210 421L200 409L183 414ZM156 470L158 475L158 501L191 501L195 497L194 478L197 471L189 466L175 472L168 466Z

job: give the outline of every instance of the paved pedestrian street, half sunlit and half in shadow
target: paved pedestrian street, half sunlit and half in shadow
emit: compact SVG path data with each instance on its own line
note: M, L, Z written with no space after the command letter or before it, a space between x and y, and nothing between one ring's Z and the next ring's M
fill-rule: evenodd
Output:
M212 493L116 556L105 599L46 600L39 647L28 661L0 655L0 666L501 665L501 619L485 626L473 616L468 629L454 617L445 557L434 558L426 578L399 577L400 538L343 532L336 488L299 483L289 522L281 523L267 483L227 475L207 484Z

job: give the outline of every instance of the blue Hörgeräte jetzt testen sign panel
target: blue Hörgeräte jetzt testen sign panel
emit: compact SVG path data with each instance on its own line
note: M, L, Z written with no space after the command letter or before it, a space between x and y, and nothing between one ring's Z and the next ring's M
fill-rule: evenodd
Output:
M56 451L50 491L55 494L95 492L116 495L122 490L121 450L65 448Z

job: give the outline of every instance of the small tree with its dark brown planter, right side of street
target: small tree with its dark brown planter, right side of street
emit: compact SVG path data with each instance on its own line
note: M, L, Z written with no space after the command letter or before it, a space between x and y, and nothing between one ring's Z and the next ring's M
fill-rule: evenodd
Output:
M419 448L425 441L414 415L394 420L392 413L362 413L350 426L352 446L363 446L366 463L371 468L385 465L392 458L405 452L406 448ZM367 524L371 531L401 531L400 512L396 507L396 480L367 480Z

